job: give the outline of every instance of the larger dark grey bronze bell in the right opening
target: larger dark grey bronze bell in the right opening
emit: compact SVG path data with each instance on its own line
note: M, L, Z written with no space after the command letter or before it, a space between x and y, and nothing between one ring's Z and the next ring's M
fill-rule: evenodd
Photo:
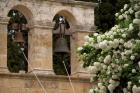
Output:
M55 53L69 53L69 48L67 46L67 41L65 38L60 37L57 39L54 52Z

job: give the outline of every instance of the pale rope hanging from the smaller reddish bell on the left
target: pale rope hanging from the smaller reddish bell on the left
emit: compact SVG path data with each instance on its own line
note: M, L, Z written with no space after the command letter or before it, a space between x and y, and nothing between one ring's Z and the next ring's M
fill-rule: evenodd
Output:
M20 48L20 50L22 51L21 48ZM29 63L29 61L28 61L28 59L27 59L27 57L26 57L26 55L25 55L25 53L24 53L23 51L22 51L22 54L24 55L24 57L25 57L25 59L26 59L28 65L30 66L31 70L33 70L31 64ZM39 85L40 85L41 88L43 89L44 93L48 93L47 90L45 89L45 87L43 86L43 84L41 83L40 79L39 79L38 76L36 75L36 73L33 72L33 74L34 74L35 78L37 79Z

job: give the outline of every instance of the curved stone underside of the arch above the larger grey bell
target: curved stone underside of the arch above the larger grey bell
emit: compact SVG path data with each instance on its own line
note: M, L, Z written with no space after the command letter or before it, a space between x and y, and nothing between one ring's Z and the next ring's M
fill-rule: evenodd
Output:
M71 12L69 12L68 10L60 10L56 13L56 15L57 14L64 16L68 20L70 26L77 24L77 20L76 20L75 16Z

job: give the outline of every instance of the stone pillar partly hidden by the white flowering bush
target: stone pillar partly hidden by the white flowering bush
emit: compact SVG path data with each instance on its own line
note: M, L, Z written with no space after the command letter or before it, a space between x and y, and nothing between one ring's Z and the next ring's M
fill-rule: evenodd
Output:
M87 69L82 67L83 61L80 60L77 48L82 46L85 42L84 37L89 35L91 31L75 29L73 33L73 39L71 40L71 75L77 77L90 77L90 73Z

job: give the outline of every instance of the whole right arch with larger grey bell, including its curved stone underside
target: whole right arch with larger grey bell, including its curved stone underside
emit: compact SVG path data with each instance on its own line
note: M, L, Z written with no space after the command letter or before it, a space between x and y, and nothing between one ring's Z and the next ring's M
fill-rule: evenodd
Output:
M53 21L55 21L52 35L54 72L56 75L71 75L71 33L69 29L76 24L76 19L70 12L61 10L54 16ZM60 44L60 42L65 44ZM60 47L58 48L59 45ZM63 55L63 50L61 51L62 47L65 51L65 55ZM56 52L55 50L60 51ZM62 63L62 61L64 61L65 64Z

